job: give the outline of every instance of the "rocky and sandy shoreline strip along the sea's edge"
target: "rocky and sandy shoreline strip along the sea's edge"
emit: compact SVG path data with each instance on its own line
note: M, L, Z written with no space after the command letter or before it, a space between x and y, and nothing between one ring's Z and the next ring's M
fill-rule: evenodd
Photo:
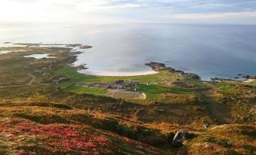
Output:
M152 68L151 71L90 71L89 68L87 68L86 64L81 65L74 65L74 62L76 62L78 59L77 57L79 54L84 53L86 49L91 48L90 45L83 45L83 44L43 44L43 43L11 43L11 42L5 42L3 44L11 44L13 46L10 47L44 47L44 46L51 46L51 47L60 47L64 46L62 48L67 48L70 50L70 57L68 59L68 64L72 67L76 68L76 70L81 74L88 74L88 75L94 75L94 76L109 76L109 77L128 77L128 76L141 76L141 75L149 75L149 74L158 74L161 70L168 70L168 71L174 71L180 74L180 76L183 76L185 78L191 78L195 80L201 80L198 74L195 73L187 73L185 71L177 70L175 68L171 68L169 66L166 66L165 63L162 62L148 62L144 65L149 66ZM76 49L77 48L77 49ZM78 51L79 50L79 51ZM4 51L5 52L5 51ZM1 54L1 53L0 53ZM242 82L253 82L256 80L256 76L248 75L248 74L237 74L235 78L211 78L209 81L222 81L222 80L229 80L229 81L242 81ZM203 80L201 80L203 81Z

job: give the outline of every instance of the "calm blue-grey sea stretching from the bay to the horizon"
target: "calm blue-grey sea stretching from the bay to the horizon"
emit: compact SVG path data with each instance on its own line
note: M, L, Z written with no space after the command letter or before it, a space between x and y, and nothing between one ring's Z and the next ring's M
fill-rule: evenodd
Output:
M256 75L256 26L5 24L0 33L0 42L92 45L75 65L94 72L150 71L143 64L156 61L203 79Z

